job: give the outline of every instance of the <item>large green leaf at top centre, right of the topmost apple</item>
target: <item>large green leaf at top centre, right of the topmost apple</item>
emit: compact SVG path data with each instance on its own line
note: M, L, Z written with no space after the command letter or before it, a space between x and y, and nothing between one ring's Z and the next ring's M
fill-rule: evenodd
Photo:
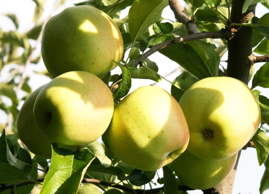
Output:
M133 41L158 22L168 0L136 0L129 10L129 32Z

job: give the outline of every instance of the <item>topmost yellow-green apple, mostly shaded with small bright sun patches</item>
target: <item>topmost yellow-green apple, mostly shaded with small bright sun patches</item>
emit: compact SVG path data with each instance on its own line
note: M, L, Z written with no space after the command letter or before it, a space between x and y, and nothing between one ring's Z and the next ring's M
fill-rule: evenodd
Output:
M68 7L46 23L42 59L52 77L68 71L96 76L116 67L123 56L123 38L116 23L88 5Z

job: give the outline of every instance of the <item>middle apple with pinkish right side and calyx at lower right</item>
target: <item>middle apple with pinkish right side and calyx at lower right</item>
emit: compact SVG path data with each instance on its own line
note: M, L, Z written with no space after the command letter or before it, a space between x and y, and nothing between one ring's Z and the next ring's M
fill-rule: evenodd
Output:
M156 86L142 86L121 100L105 135L111 151L121 161L145 171L171 163L189 142L180 106Z

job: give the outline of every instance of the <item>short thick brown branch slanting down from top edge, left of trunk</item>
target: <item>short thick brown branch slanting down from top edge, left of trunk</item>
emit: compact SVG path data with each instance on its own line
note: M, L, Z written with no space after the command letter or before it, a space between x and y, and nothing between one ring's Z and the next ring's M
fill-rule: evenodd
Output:
M189 19L188 14L184 11L179 0L169 0L169 6L175 14L175 18L178 22L183 23L188 31L188 34L198 33L198 29L193 21Z

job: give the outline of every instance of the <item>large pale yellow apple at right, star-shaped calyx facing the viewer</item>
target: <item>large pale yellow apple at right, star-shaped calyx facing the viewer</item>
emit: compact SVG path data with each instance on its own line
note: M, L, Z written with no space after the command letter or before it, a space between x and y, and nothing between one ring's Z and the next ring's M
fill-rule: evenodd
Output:
M196 82L184 92L179 104L189 126L187 151L208 161L234 155L261 122L255 95L246 84L231 77Z

